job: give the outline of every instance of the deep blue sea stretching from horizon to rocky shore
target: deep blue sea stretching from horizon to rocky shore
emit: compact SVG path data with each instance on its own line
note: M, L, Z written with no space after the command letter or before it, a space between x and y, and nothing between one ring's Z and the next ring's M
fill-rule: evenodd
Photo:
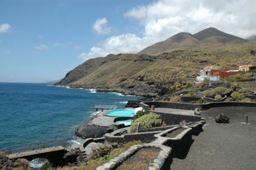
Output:
M0 83L0 148L38 141L79 142L75 129L95 104L125 107L137 96L39 83Z

